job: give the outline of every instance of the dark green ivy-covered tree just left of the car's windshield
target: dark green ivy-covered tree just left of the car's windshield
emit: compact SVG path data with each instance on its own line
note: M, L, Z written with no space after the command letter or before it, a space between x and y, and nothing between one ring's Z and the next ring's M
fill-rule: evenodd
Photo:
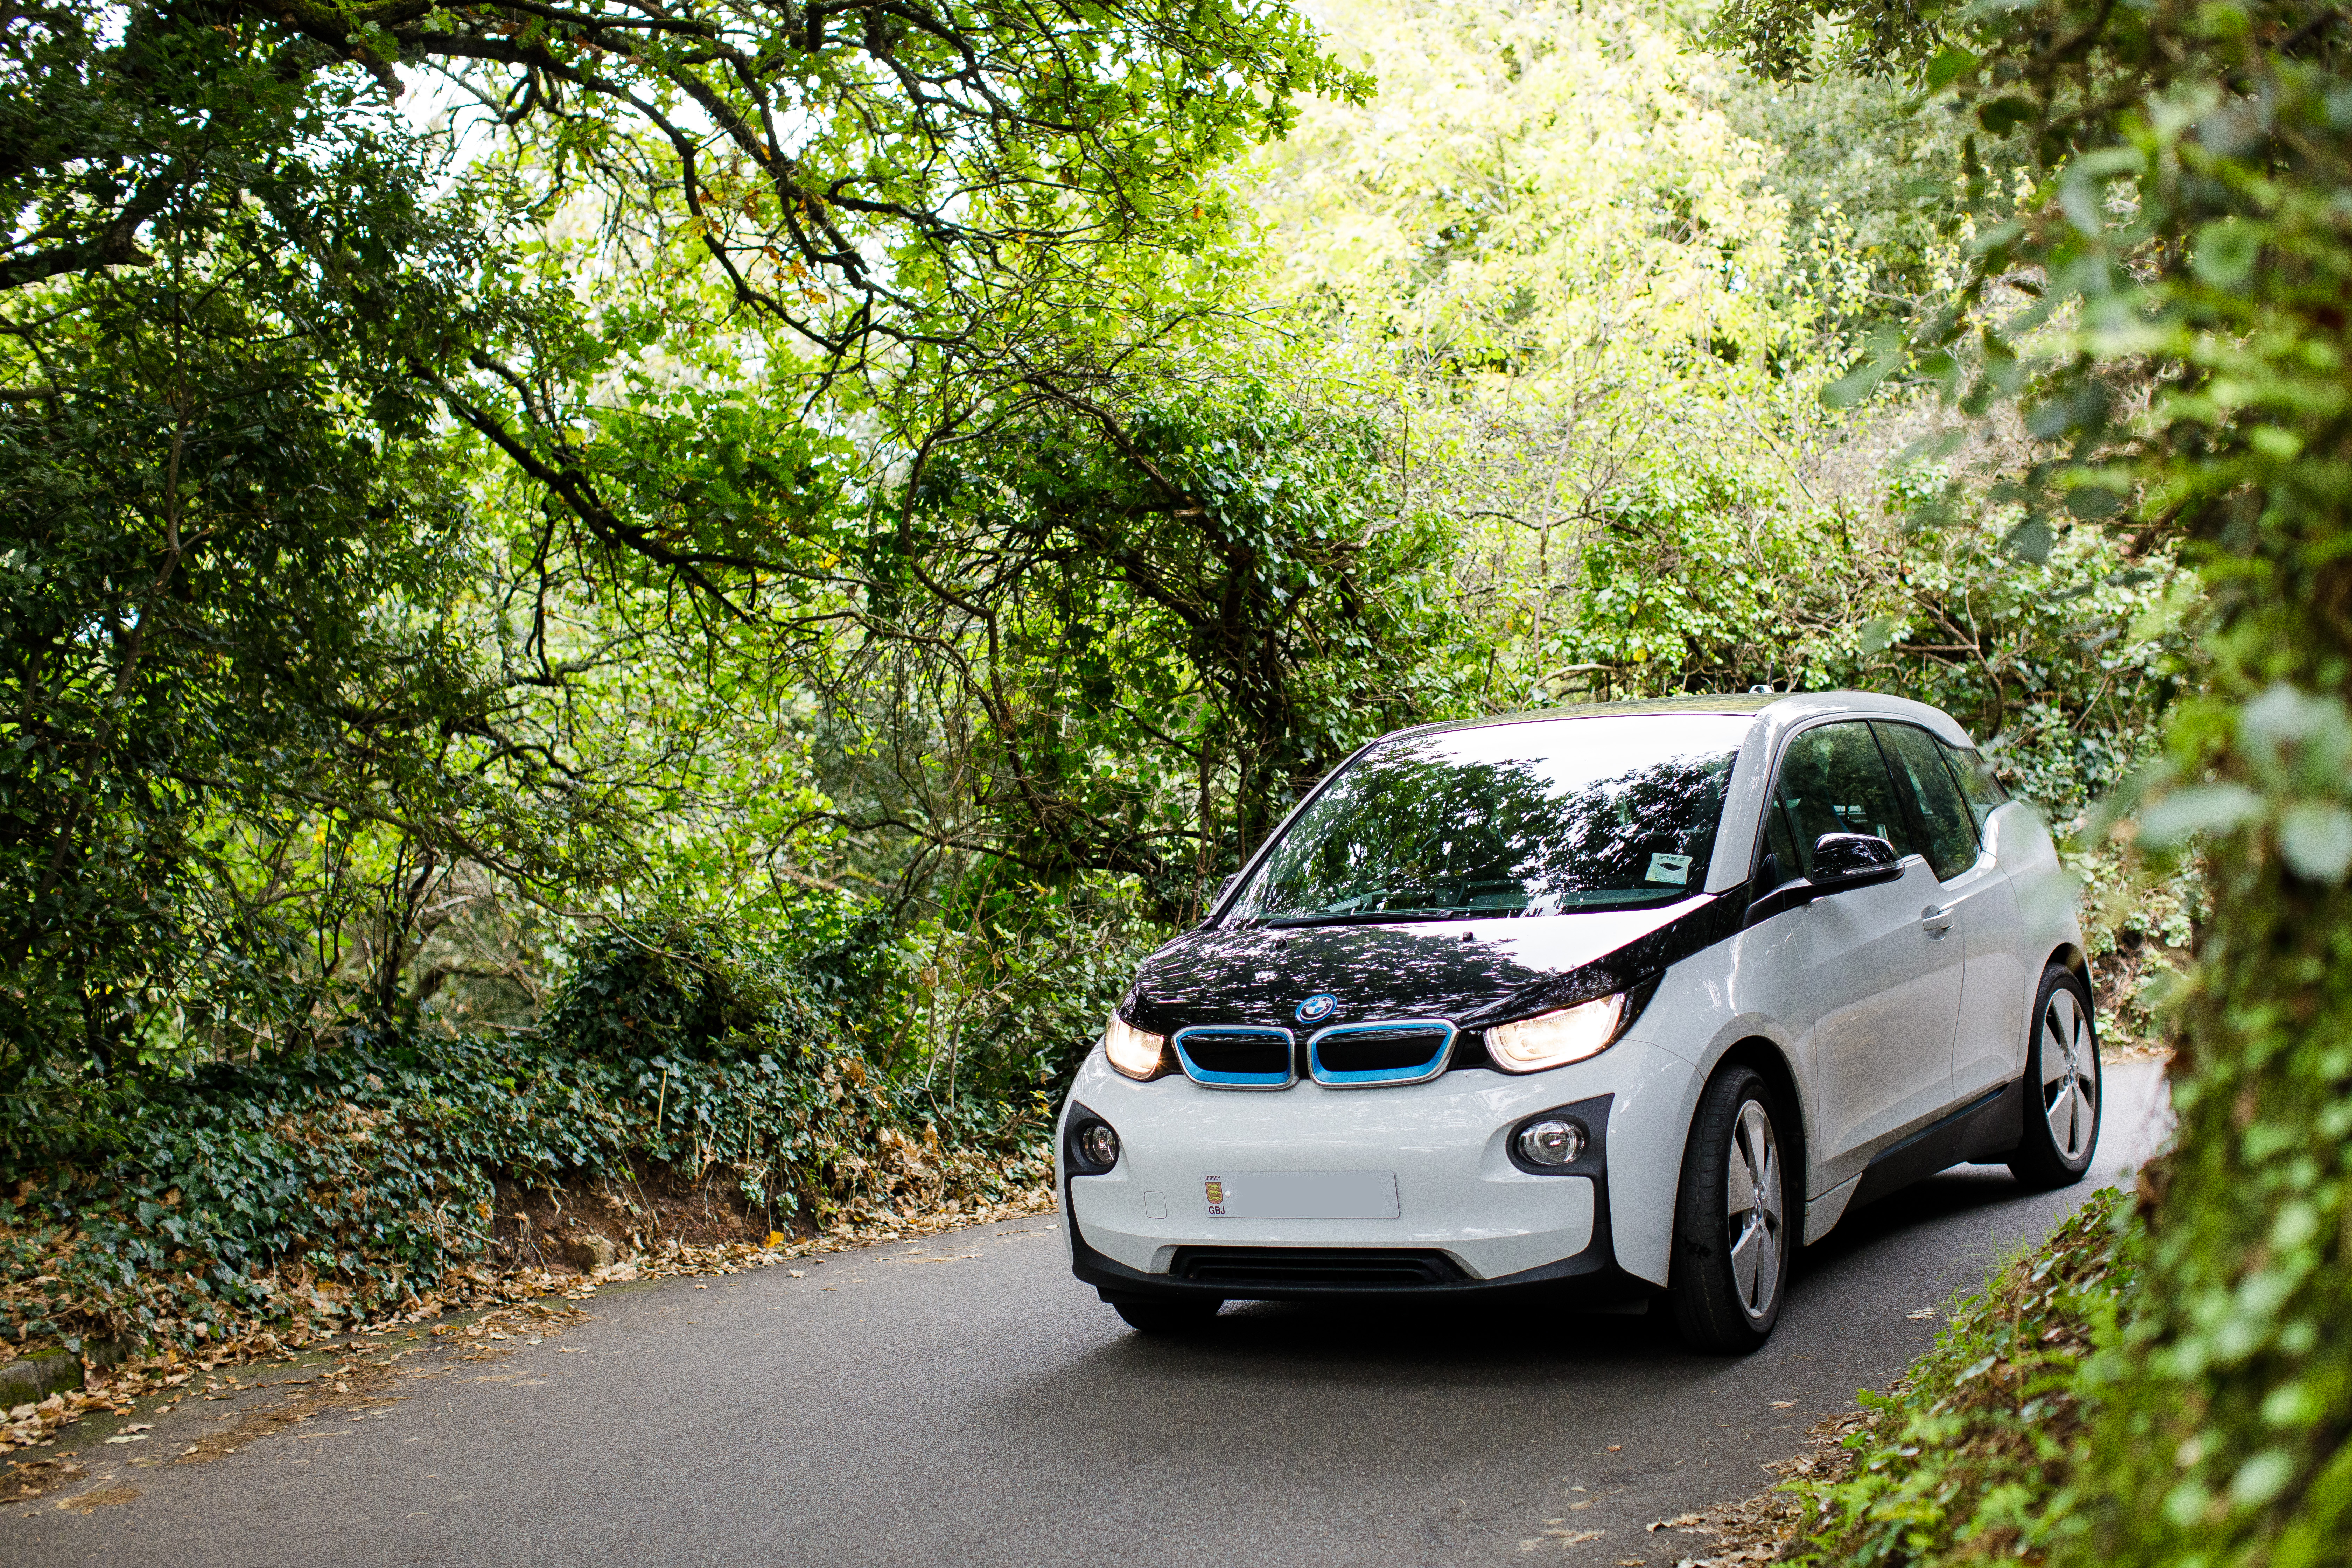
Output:
M985 715L1002 856L1141 877L1167 919L1355 745L1458 701L1432 658L1463 642L1446 529L1388 508L1383 447L1235 381L1047 407L927 463L882 562L934 609L880 630L946 654Z

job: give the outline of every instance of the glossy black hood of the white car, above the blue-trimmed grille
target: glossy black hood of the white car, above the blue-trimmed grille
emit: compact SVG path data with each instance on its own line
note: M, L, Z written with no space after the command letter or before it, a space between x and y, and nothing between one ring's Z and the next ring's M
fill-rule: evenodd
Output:
M1449 1018L1463 1030L1625 990L1738 931L1745 889L1651 910L1395 926L1202 926L1143 961L1120 1013L1167 1034L1202 1023L1301 1030Z

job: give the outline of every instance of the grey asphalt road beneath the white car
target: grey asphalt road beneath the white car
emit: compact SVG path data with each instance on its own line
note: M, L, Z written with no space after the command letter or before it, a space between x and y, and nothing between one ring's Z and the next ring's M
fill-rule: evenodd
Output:
M2161 1135L2152 1065L2110 1067L2107 1095L2098 1180ZM1762 1490L2091 1190L1969 1166L1849 1215L1738 1361L1651 1319L1496 1309L1254 1305L1145 1340L1068 1276L1054 1215L804 1279L612 1288L569 1333L419 1359L390 1403L212 1462L132 1455L221 1432L233 1401L172 1410L148 1448L78 1427L59 1448L89 1474L0 1512L0 1563L1663 1568L1696 1542L1649 1521ZM139 1495L73 1507L108 1488Z

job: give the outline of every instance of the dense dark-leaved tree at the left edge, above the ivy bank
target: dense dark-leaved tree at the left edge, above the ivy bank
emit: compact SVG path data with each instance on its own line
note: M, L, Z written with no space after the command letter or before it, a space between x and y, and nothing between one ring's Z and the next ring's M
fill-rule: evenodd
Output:
M405 364L463 353L480 212L416 200L414 139L348 132L247 165L209 228L160 214L153 266L0 306L0 369L38 383L0 404L0 1086L115 1065L158 1016L383 1011L397 964L292 959L597 818L506 731L466 503L419 451Z

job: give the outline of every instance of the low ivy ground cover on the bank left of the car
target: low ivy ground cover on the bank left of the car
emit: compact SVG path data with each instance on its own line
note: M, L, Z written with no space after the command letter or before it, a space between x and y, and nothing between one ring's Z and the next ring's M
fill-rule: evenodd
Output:
M823 959L668 922L600 938L536 1034L353 1030L334 1051L5 1100L5 1331L332 1331L475 1260L494 1175L724 1168L779 1220L823 1225L891 1213L906 1152L941 1140L955 1154L929 1185L950 1197L1049 1168L1033 1081L884 1074L863 1023Z

